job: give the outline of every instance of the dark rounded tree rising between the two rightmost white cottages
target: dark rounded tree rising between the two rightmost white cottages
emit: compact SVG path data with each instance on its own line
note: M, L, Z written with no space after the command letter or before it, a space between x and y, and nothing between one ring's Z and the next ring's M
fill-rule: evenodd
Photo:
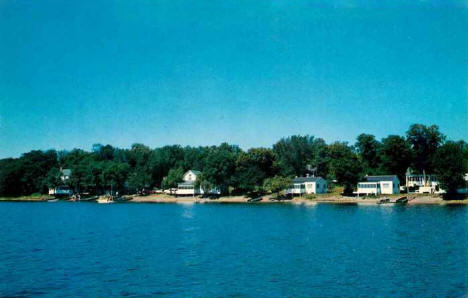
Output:
M397 175L400 181L405 181L405 173L411 164L413 152L404 138L392 135L383 139L379 156L382 173Z

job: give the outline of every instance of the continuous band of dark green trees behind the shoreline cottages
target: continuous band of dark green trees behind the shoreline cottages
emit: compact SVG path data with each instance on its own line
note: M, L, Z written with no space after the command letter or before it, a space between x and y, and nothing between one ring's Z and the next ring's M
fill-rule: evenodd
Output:
M60 169L72 170L67 183L76 192L102 194L111 188L135 192L142 188L176 187L188 169L202 172L199 183L224 193L275 191L294 176L311 171L352 193L365 175L396 174L405 181L408 168L436 174L442 188L455 192L468 172L468 144L450 141L438 126L413 124L405 136L377 140L361 134L355 144L294 135L272 148L242 150L236 145L130 149L95 144L91 151L33 150L19 158L0 160L0 196L47 193L61 185ZM331 183L332 184L332 183Z

